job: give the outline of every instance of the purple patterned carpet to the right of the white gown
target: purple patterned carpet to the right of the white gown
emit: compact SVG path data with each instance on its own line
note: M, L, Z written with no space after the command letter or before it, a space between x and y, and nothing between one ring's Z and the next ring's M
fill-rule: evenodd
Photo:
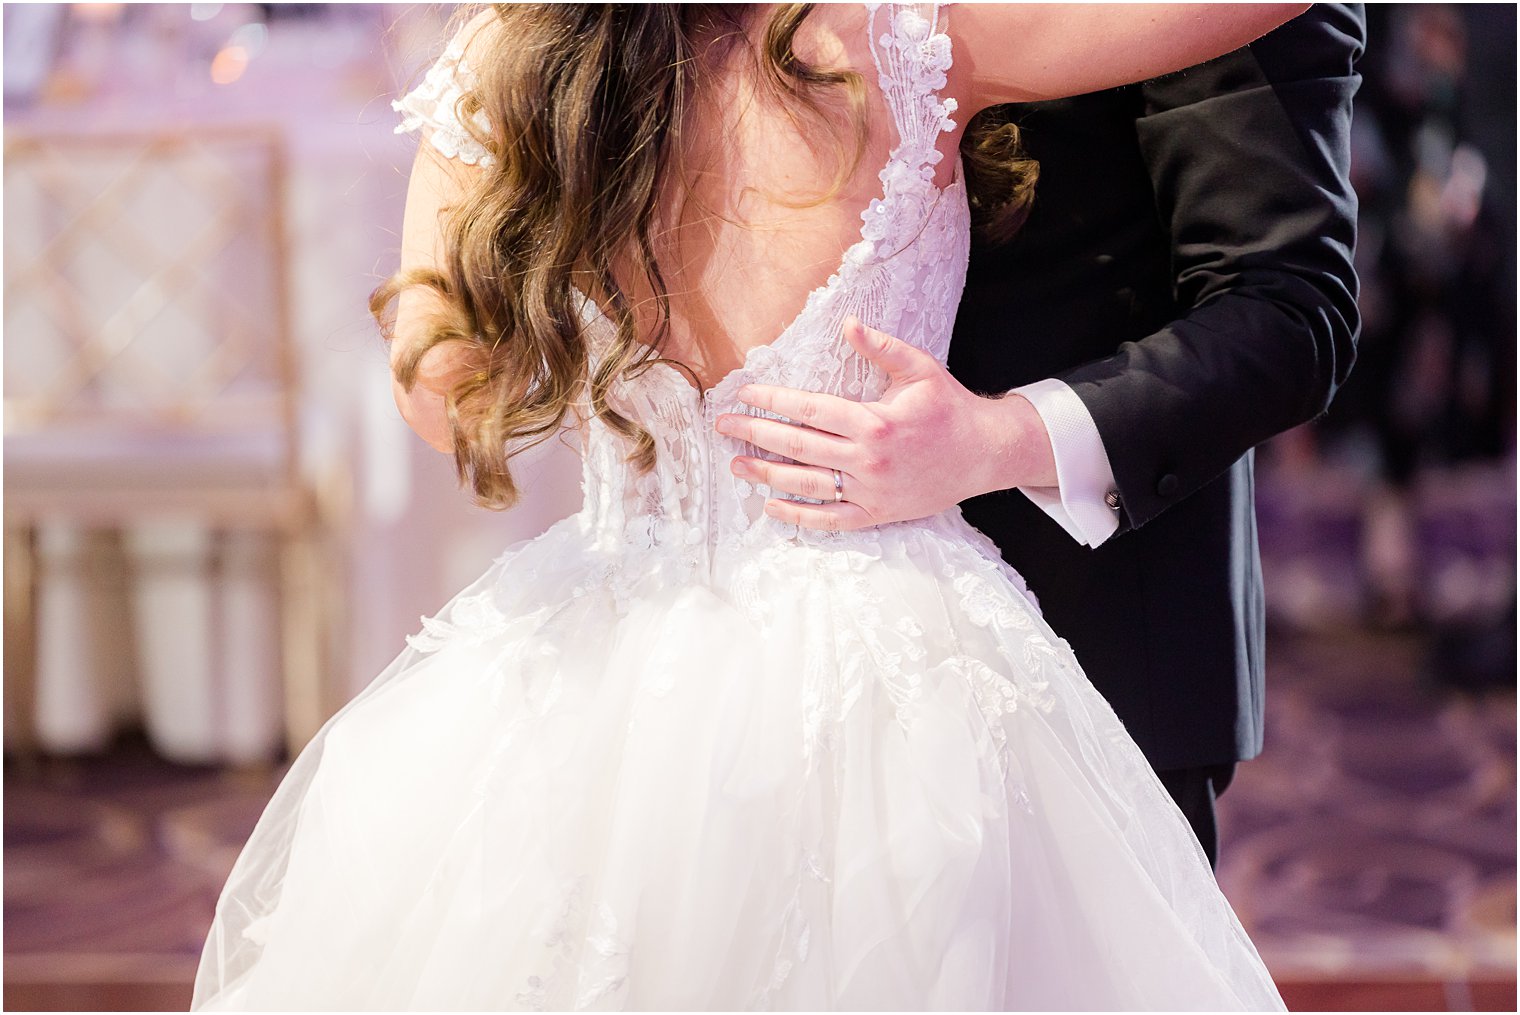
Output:
M1221 798L1219 880L1280 979L1514 975L1514 693L1430 687L1424 652L1271 646L1268 746Z

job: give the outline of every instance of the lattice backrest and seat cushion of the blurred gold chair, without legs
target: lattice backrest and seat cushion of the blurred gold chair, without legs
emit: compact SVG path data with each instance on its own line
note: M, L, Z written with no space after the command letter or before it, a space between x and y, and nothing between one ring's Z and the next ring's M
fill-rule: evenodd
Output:
M296 486L284 188L274 129L8 131L8 465L182 451L187 486L243 459Z

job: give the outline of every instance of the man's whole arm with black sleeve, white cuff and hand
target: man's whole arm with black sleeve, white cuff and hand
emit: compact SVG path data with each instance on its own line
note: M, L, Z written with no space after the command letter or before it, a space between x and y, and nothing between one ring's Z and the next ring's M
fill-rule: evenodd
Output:
M1248 50L1143 85L1137 131L1181 318L1002 398L971 397L926 354L879 336L856 346L891 377L879 403L740 392L813 424L720 418L722 432L804 463L740 457L734 471L772 494L828 500L827 470L842 470L850 503L771 501L784 521L827 529L1017 488L1097 545L1322 413L1359 328L1348 163L1363 41L1357 6L1316 5ZM839 422L819 427L824 418ZM819 441L816 428L844 441Z

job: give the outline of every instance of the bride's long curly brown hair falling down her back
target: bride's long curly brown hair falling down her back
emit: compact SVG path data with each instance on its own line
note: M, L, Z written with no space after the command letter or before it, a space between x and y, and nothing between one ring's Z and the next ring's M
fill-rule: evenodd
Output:
M518 498L508 460L558 433L578 407L629 441L648 470L655 442L608 398L613 384L661 359L670 311L652 236L661 184L696 96L701 68L725 47L746 46L749 5L492 5L471 41L476 85L458 119L492 157L439 220L436 269L398 272L374 290L371 313L391 337L388 308L410 287L439 310L394 360L397 381L416 383L423 357L453 343L474 369L444 397L461 482L486 508ZM755 47L762 79L839 138L848 181L866 144L865 87L848 70L812 67L792 43L812 5L780 5ZM842 91L845 112L827 103ZM476 119L483 112L480 128ZM983 120L983 119L979 119ZM853 149L853 155L845 153ZM962 141L973 211L994 234L1011 232L1034 188L1035 164L1018 152L1017 126L985 122ZM640 340L632 264L654 293L658 325ZM576 289L594 293L616 339L591 366Z

